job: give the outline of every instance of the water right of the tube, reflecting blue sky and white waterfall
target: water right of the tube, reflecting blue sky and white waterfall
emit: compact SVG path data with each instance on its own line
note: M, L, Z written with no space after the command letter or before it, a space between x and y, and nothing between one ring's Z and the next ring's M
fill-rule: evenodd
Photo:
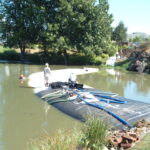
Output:
M78 79L94 88L150 103L150 75L106 69Z

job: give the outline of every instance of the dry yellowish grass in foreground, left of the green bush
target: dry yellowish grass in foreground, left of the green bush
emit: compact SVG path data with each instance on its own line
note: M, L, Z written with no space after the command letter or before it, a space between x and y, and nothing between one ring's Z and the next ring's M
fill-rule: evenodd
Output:
M78 142L78 132L58 130L53 136L43 135L32 140L27 150L75 150Z

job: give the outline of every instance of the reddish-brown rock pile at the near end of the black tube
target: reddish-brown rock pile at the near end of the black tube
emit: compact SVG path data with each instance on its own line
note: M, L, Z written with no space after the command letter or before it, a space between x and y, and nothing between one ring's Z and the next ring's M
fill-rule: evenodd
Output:
M150 122L138 121L129 130L110 131L108 147L104 150L125 150L135 146L143 137L150 132Z

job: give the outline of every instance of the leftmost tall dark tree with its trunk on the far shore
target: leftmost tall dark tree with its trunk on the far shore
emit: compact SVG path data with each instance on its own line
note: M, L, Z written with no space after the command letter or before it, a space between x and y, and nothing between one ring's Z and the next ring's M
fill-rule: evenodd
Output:
M5 0L3 5L3 32L5 45L20 48L24 62L26 48L38 39L43 29L42 17L34 0Z

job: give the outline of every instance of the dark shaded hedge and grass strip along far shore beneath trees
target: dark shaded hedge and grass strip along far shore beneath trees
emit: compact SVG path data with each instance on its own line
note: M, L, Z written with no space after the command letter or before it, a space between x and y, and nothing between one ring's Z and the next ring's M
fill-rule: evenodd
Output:
M0 46L0 60L20 61L20 51L17 49L9 49ZM64 55L55 51L44 51L37 49L27 50L25 62L33 64L43 64L48 62L54 65L63 65L65 62ZM101 56L84 55L83 53L69 53L67 56L68 65L101 65L105 64L108 59L107 54Z

